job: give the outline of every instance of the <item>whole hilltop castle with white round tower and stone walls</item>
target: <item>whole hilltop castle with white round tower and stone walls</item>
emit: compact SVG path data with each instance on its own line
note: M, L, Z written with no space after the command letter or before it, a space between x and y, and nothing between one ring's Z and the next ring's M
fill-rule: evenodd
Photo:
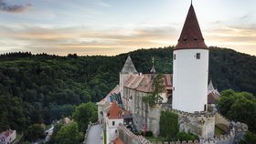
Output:
M155 107L143 101L155 89L153 83L157 74L154 61L151 71L142 74L128 56L120 72L119 85L97 103L107 144L118 143L116 141L131 143L137 138L129 132L134 129L152 131L157 137L160 134L161 111L167 109L178 115L179 131L196 134L200 143L228 144L239 141L248 127L223 118L217 110L208 110L219 98L219 92L212 82L208 84L208 53L191 4L174 48L173 74L164 74L162 78L164 89L159 94L162 100ZM216 126L221 126L227 135L216 138ZM137 141L133 143L149 143L144 139Z

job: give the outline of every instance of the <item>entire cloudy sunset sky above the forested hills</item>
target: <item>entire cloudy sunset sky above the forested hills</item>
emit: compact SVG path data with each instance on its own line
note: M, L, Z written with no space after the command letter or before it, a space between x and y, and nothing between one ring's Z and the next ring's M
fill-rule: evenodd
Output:
M0 0L0 54L114 56L176 46L190 0ZM255 0L194 0L208 46L256 55Z

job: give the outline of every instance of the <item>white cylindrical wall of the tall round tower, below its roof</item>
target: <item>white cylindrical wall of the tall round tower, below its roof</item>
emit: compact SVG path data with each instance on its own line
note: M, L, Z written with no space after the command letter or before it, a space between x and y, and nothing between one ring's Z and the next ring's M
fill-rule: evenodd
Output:
M196 58L200 53L200 59ZM208 50L175 50L173 64L173 108L204 111L208 96Z

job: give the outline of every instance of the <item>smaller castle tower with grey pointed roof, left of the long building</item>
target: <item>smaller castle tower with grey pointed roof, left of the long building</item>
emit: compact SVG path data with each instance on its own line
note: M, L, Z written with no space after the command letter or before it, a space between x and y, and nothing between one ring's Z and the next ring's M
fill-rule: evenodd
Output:
M123 101L124 107L128 105L128 99L123 98L123 85L127 81L127 79L132 75L138 75L138 71L133 65L133 61L130 56L127 57L123 69L121 70L119 74L119 87L120 87L120 94Z

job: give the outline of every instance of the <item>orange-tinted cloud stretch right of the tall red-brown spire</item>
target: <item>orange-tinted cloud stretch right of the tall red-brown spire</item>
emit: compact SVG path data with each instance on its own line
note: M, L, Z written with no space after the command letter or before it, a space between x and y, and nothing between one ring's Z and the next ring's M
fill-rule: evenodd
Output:
M208 46L223 46L242 53L256 55L256 26L222 26L205 31Z

